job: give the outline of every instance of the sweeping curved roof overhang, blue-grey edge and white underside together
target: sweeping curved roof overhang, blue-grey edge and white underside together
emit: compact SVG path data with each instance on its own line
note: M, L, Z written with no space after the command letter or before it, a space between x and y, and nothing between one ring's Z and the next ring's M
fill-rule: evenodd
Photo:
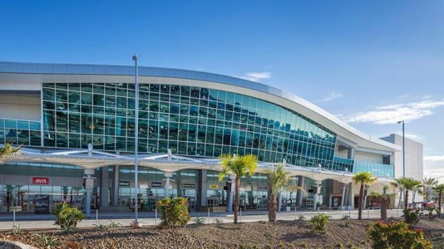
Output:
M133 83L133 66L112 66L92 64L48 64L24 62L0 62L0 92L2 91L40 91L42 82L126 82ZM230 85L233 91L241 91L257 98L276 102L297 111L303 116L318 122L338 134L343 140L350 140L357 147L393 153L401 151L399 145L374 138L328 113L321 107L304 100L297 95L251 82L237 77L205 73L176 68L139 67L139 82L162 84L189 84L203 86L212 83L212 87L226 90ZM39 83L34 84L33 83ZM18 86L26 86L24 89ZM206 87L208 87L206 85Z

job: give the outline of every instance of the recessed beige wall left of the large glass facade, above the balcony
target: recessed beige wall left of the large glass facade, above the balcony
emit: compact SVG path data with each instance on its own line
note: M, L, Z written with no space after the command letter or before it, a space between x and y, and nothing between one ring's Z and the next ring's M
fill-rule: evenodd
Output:
M40 120L40 95L0 93L0 117Z

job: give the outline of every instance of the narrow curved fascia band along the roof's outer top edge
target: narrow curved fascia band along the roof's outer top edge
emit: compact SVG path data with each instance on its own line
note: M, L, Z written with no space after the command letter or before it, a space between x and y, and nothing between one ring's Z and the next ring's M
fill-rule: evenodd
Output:
M49 63L28 63L28 62L0 62L0 83L8 82L8 76L2 76L4 74L26 74L26 75L110 75L110 76L133 76L133 66L114 66L114 65L93 65L93 64L49 64ZM196 82L214 82L217 84L228 84L234 87L249 89L253 91L259 91L269 95L273 95L283 100L287 100L293 104L305 109L307 113L311 113L319 118L313 118L314 121L331 129L327 124L328 121L336 124L345 132L339 131L339 129L331 129L335 133L352 140L357 143L357 147L368 147L370 149L379 149L386 151L400 151L398 145L394 145L391 142L386 142L379 138L373 138L372 136L363 133L350 124L347 124L343 120L333 116L331 113L321 109L305 99L289 93L276 89L273 86L268 86L258 82L252 82L249 80L240 79L237 77L219 75L216 73L205 73L200 71L191 71L185 69L176 68L156 68L139 66L139 76L141 77L167 77L176 79L186 79ZM37 78L36 80L40 80ZM266 99L265 99L266 100ZM291 104L281 104L289 109ZM295 110L296 111L296 110ZM300 111L297 111L300 113ZM305 115L305 113L300 113Z

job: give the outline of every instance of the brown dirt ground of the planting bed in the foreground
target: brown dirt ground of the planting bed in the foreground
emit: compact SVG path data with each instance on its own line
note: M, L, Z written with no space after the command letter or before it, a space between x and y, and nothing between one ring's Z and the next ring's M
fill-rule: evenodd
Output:
M325 234L314 234L309 221L255 222L234 225L188 225L176 230L146 228L81 228L72 234L60 230L26 230L20 236L0 232L0 241L21 241L44 248L33 234L60 239L53 248L371 248L366 225L373 221L330 221ZM434 248L444 248L444 219L422 219L417 228L425 231Z

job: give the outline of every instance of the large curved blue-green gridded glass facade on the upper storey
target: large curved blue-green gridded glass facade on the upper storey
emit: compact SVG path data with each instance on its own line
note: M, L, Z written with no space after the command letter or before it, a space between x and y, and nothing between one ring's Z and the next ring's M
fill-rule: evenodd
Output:
M141 84L44 83L44 146L259 160L343 170L334 164L336 134L277 104L229 91ZM350 170L350 169L349 169Z

